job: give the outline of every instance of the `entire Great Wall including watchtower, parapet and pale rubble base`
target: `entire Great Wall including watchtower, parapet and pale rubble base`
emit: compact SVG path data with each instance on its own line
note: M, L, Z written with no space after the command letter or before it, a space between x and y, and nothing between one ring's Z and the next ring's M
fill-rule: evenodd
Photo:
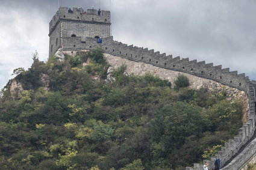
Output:
M247 121L239 129L238 135L229 139L216 156L224 166L222 169L246 169L249 162L256 162L256 138L252 139L255 133L255 81L251 81L244 73L237 74L237 71L229 71L229 68L222 68L221 65L189 61L189 58L180 56L173 58L166 53L160 54L152 49L114 41L110 35L110 25L110 11L98 14L93 9L86 12L82 8L69 10L67 7L60 7L49 23L49 56L55 52L75 54L79 50L101 47L105 58L114 68L126 64L128 73L143 74L148 71L171 82L178 74L185 74L194 85L192 88L214 84L243 92L249 105ZM243 151L240 151L243 147ZM207 161L211 165L209 169L212 169L214 157ZM186 169L202 169L202 165L195 163L193 168Z

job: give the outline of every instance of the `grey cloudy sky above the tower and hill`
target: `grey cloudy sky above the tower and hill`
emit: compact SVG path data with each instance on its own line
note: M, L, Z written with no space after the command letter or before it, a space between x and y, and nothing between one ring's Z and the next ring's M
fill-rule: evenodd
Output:
M60 6L95 8L99 0L1 0L0 88L14 68L48 59L48 23ZM101 0L114 40L213 62L256 79L256 1Z

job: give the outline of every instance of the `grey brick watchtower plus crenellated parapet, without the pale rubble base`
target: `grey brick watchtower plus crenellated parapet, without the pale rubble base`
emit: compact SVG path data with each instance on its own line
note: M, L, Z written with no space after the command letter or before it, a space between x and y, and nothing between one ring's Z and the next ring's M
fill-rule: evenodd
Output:
M49 23L49 56L59 48L76 51L101 47L104 53L113 56L214 80L223 85L245 91L249 99L249 119L239 129L238 135L229 139L217 154L222 166L252 138L255 132L255 90L253 83L256 84L256 82L251 82L244 73L238 74L237 71L222 68L222 65L213 65L213 63L205 63L205 61L197 61L196 59L190 61L189 58L173 57L172 55L166 55L166 53L155 52L154 49L114 41L110 34L110 25L110 11L101 11L101 14L98 15L98 11L94 9L84 11L82 8L72 8L71 10L67 7L60 7ZM102 38L102 43L97 43L99 37ZM251 150L241 153L243 154L243 162L231 162L228 166L232 168L226 169L242 167L243 163L252 157L253 151L256 152L256 144L252 144L255 144L255 142L251 142L251 146L248 147ZM212 168L214 157L207 160L207 162L210 163L210 168ZM193 168L187 167L186 169L202 169L202 166L195 163Z

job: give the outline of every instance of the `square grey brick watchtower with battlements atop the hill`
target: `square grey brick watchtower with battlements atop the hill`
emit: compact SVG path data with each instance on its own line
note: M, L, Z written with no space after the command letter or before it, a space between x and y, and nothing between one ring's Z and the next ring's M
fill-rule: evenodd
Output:
M81 50L95 38L110 37L110 11L60 7L49 23L49 56L63 50Z

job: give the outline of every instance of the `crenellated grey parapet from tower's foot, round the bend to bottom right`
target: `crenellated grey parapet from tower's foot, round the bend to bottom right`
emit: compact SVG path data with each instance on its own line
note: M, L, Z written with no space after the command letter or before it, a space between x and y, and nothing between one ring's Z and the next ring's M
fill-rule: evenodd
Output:
M76 37L78 38L78 37ZM221 148L217 156L221 160L221 165L225 165L234 155L236 155L240 148L248 142L255 132L255 97L254 88L252 82L248 76L244 73L237 74L237 71L230 71L229 68L222 68L222 65L214 66L213 63L205 63L205 61L197 61L196 59L190 61L189 58L181 58L166 53L155 52L154 49L137 47L128 45L119 41L114 41L113 37L102 38L102 44L96 43L95 38L86 38L86 43L81 49L93 49L95 47L101 47L104 53L109 53L114 56L120 56L131 61L143 62L151 64L157 67L166 68L169 70L180 71L183 73L192 74L194 76L203 77L205 79L211 79L216 82L220 82L223 85L237 88L245 91L249 99L249 112L250 116L246 124L239 129L239 133L233 139L229 139L228 142ZM70 46L69 49L63 50L75 50ZM249 157L249 156L246 156ZM214 157L208 162L213 165ZM242 165L241 165L242 166ZM236 166L236 168L238 165ZM193 168L187 169L202 169L202 165L195 164Z

